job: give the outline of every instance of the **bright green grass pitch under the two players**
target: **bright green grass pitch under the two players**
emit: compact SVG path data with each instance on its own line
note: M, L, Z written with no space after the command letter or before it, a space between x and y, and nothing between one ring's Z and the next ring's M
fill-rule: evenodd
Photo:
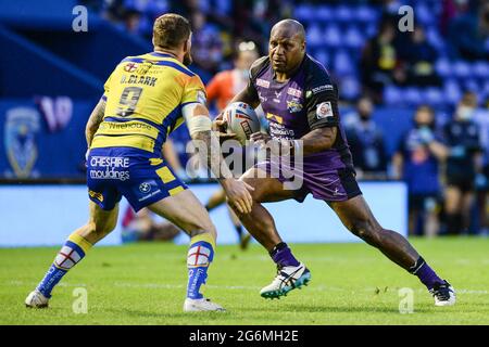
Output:
M208 297L227 312L184 313L185 246L95 247L53 291L50 308L24 307L57 248L0 249L0 324L489 324L489 239L412 240L457 290L457 304L435 307L423 284L363 244L298 244L312 281L279 300L260 297L275 268L258 245L244 253L218 246ZM88 313L75 314L75 287L86 287ZM414 292L401 314L398 290Z

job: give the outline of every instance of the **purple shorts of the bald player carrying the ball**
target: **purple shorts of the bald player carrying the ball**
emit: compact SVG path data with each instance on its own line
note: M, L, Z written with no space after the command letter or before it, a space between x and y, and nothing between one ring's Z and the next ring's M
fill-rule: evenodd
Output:
M353 168L324 169L316 163L303 163L303 167L278 164L271 160L254 166L283 182L284 189L294 190L294 200L302 203L308 194L326 202L344 202L362 194Z

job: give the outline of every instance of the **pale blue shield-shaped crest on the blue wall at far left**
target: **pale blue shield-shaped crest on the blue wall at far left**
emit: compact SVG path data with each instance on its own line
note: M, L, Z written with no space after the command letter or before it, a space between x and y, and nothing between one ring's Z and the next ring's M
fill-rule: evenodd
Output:
M37 111L16 107L7 112L4 145L9 163L17 178L30 176L38 154L36 132L39 128Z

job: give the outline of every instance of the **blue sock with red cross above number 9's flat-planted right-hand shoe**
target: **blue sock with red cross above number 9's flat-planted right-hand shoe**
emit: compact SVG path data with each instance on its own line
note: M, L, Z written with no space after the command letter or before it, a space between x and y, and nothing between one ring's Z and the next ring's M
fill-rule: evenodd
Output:
M200 287L205 283L208 269L214 258L214 240L209 233L193 236L187 254L187 297L201 299Z

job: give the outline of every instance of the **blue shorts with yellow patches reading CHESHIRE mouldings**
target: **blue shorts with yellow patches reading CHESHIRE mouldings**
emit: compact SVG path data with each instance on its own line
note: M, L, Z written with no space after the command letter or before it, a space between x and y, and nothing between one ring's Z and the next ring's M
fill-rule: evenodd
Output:
M131 147L90 150L87 185L102 209L113 209L125 196L136 211L187 189L162 158Z

